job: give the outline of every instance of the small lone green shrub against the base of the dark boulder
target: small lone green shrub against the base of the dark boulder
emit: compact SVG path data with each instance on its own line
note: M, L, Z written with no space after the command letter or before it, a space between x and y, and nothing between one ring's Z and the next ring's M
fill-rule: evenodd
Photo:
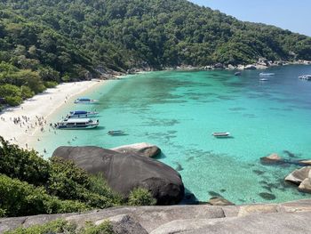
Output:
M153 206L156 205L156 199L148 190L137 188L131 191L128 203L130 206Z

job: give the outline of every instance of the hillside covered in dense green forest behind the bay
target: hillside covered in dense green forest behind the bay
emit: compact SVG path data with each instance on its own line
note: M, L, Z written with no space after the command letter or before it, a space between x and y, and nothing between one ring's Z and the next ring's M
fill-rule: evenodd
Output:
M107 69L311 60L311 38L185 0L0 1L0 101Z

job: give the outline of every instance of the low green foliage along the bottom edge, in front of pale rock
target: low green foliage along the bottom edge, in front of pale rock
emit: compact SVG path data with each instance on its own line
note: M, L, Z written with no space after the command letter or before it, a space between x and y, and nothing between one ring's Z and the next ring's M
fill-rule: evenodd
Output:
M59 219L47 222L41 225L35 225L29 228L18 228L16 230L6 231L4 234L114 234L113 227L110 222L103 222L98 226L92 223L86 225L85 228L78 228L76 223L67 222Z

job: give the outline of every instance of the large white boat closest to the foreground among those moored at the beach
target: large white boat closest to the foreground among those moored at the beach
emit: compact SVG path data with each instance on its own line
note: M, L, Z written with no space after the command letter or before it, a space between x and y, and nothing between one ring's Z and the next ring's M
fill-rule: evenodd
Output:
M55 124L58 129L88 129L95 128L100 124L99 120L92 120L91 118L68 118Z

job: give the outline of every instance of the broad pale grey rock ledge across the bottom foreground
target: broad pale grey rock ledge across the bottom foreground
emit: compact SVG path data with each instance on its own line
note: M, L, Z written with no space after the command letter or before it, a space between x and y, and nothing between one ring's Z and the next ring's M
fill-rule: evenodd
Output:
M0 219L0 233L63 218L79 227L110 220L116 233L310 233L311 199L245 206L140 206L84 214Z

